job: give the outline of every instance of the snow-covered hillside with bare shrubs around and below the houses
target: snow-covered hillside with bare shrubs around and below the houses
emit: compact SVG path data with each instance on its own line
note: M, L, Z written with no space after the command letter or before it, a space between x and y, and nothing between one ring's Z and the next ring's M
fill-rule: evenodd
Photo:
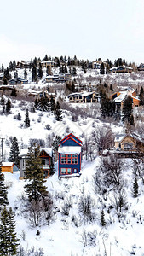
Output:
M20 70L19 75L22 77ZM78 76L80 78L79 69ZM84 74L86 77L86 75ZM83 82L87 83L88 77L94 76L95 81L100 80L100 75L95 71L89 71L87 78L83 77ZM107 76L106 76L107 77ZM106 79L104 76L104 79ZM102 77L101 77L102 78ZM121 76L122 78L122 76ZM127 83L131 82L130 75L127 75ZM84 81L85 79L85 81ZM107 77L109 82L118 83L118 76ZM137 75L138 79L138 75ZM120 80L120 79L119 79ZM137 80L138 81L138 80ZM32 82L32 81L31 81ZM124 82L124 81L123 81ZM96 82L97 83L97 82ZM121 80L122 83L122 80ZM135 84L133 80L132 84ZM58 87L59 85L57 85ZM38 87L38 89L37 89ZM11 138L17 137L19 148L30 146L32 139L43 140L44 147L51 146L51 141L56 135L65 137L72 132L85 143L92 131L99 127L101 130L107 125L112 129L113 134L124 132L125 126L120 122L111 122L101 119L100 109L93 104L70 104L67 101L64 89L58 89L57 99L65 99L67 108L62 109L62 121L56 121L54 113L40 110L33 111L33 101L27 99L28 90L42 90L46 87L40 81L38 84L25 84L19 90L25 96L11 97L5 93L4 100L12 102L9 114L3 113L3 106L0 106L0 137L3 140L4 160L9 159ZM54 86L55 87L55 86ZM63 105L65 106L65 105ZM77 107L78 106L78 107ZM24 125L26 109L29 109L30 127ZM143 108L135 111L135 116L140 116L143 121ZM21 119L15 119L20 113ZM72 114L78 117L72 120ZM47 129L49 125L49 130ZM134 162L130 159L123 159L121 173L121 183L117 186L107 186L102 188L95 186L101 181L101 156L93 148L94 155L92 161L90 157L86 160L85 154L82 161L82 175L70 179L58 179L57 170L52 177L44 183L53 199L52 216L48 222L42 218L41 224L32 227L31 218L26 216L24 186L26 181L19 179L19 172L13 174L5 172L5 183L8 186L9 206L13 207L16 220L16 232L20 239L20 247L30 254L21 255L42 255L32 254L33 251L43 249L46 256L127 256L144 255L143 232L144 232L144 187L141 178L138 178L139 193L136 198L132 195L134 182ZM56 165L56 163L55 163ZM124 205L119 210L116 195L120 193L124 196ZM118 194L119 193L119 194ZM81 212L81 202L89 200L90 216L85 216ZM101 224L101 211L104 212L105 225ZM119 212L120 211L120 212ZM39 232L37 232L39 230ZM38 234L39 233L39 234ZM40 251L39 251L40 252Z

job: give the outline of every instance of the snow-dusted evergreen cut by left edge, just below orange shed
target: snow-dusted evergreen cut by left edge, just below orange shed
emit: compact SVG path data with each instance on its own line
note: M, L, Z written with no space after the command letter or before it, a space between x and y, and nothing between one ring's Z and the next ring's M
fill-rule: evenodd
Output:
M2 172L2 162L0 162L0 210L2 209L3 206L6 206L9 204L7 188L4 185L3 181L4 181L4 175Z

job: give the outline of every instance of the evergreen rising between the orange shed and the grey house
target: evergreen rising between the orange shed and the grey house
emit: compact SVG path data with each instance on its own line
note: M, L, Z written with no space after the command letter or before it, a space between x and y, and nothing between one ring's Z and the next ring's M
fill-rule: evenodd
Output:
M10 148L10 154L9 154L9 161L14 162L14 165L19 166L19 145L18 145L18 141L17 138L14 137L12 140L12 145Z

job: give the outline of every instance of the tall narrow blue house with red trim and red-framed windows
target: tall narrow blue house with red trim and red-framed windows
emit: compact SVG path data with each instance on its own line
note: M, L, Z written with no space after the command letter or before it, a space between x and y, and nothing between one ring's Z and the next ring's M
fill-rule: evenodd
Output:
M78 177L81 171L82 141L72 133L60 141L58 177Z

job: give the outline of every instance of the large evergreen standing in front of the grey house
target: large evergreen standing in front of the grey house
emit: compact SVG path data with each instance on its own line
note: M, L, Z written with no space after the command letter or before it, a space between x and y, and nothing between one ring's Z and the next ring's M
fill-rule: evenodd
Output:
M25 178L29 181L25 185L26 194L29 201L39 201L48 195L46 187L43 186L43 166L39 157L39 147L29 148L28 158L26 160Z

